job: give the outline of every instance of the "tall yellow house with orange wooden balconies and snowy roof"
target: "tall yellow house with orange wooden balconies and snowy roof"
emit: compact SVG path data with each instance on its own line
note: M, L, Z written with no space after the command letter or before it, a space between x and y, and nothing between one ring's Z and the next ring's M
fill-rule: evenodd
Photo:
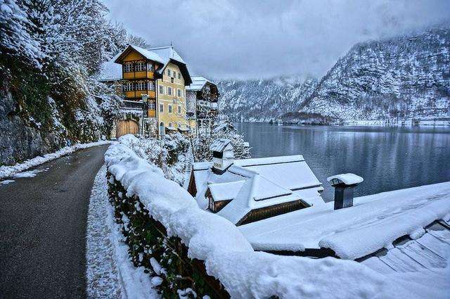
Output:
M122 65L125 108L142 108L142 95L148 95L146 117L139 120L146 134L188 132L186 85L192 80L186 63L172 46L142 49L129 45L115 63Z

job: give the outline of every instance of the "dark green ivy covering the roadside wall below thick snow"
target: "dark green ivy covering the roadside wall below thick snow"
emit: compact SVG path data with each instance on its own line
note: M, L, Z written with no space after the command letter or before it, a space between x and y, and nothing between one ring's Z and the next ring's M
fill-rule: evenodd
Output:
M130 135L131 136L131 135ZM131 144L136 139L127 138ZM144 267L163 298L226 298L223 286L208 276L205 265L188 257L188 248L176 236L168 236L165 227L153 217L137 196L127 196L122 184L110 173L108 193L120 224L124 241L135 267ZM181 293L178 297L178 294Z

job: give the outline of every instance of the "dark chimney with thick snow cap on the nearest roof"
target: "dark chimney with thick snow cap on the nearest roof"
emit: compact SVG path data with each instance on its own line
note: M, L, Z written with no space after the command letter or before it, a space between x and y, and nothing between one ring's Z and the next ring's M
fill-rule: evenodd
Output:
M335 210L352 207L354 187L364 181L352 173L336 174L327 180L335 188Z

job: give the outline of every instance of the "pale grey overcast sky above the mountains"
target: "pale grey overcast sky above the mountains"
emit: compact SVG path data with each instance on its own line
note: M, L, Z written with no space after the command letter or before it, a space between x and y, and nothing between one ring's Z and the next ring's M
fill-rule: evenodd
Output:
M191 75L320 77L350 47L449 21L449 0L103 0L152 46L174 45Z

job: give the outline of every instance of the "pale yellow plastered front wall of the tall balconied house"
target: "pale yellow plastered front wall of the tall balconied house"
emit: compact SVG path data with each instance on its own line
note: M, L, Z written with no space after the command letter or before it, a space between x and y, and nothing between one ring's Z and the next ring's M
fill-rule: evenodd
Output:
M170 70L176 75L173 77L167 75L167 70ZM186 88L184 86L184 77L181 75L181 79L178 79L178 74L181 73L177 65L169 63L164 70L162 79L158 79L158 124L164 123L165 127L169 127L172 123L172 127L178 129L178 124L181 127L186 128L188 122L186 120ZM172 83L172 79L174 82ZM163 87L163 93L160 93L160 86ZM172 95L168 94L169 87L172 87ZM178 89L181 89L181 96L178 96ZM174 100L176 100L174 102ZM164 112L160 112L160 105L164 106ZM169 105L172 105L172 113L169 113ZM181 106L181 113L178 113L178 106Z

